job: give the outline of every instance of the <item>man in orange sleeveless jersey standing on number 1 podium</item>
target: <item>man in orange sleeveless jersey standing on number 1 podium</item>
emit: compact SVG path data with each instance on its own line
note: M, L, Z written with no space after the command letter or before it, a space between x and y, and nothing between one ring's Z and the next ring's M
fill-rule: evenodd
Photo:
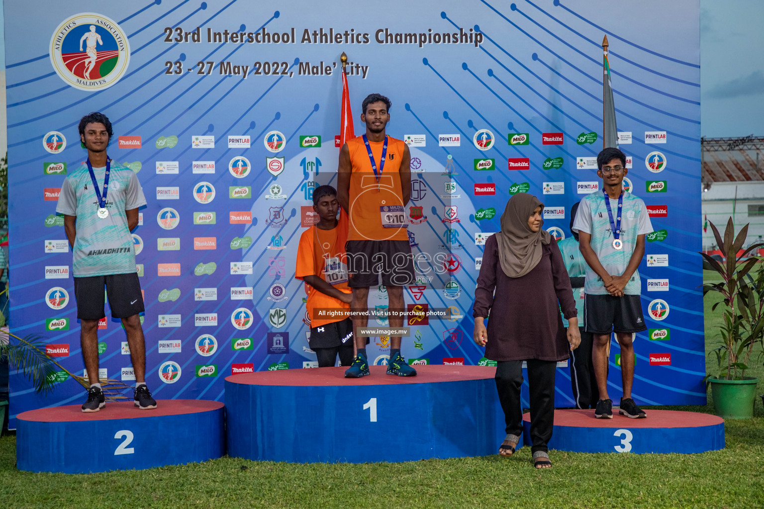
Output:
M361 122L366 134L348 140L339 153L337 199L348 213L348 286L353 311L366 311L369 287L381 275L387 287L390 327L403 327L403 286L414 282L414 266L404 207L411 195L409 147L387 136L390 99L371 94L364 99ZM368 375L367 337L358 334L367 316L353 317L356 356L345 371L348 378ZM388 375L413 376L416 370L400 355L400 336L390 336Z

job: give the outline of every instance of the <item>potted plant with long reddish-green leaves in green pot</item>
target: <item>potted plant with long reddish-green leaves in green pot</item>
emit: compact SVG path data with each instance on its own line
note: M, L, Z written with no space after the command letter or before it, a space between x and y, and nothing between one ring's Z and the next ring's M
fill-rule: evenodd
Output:
M735 237L732 218L727 221L724 239L717 227L711 223L722 262L701 253L711 269L722 279L717 283L704 284L704 294L718 292L723 300L714 304L724 304L724 324L720 327L721 344L711 350L717 358L717 375L707 375L714 398L717 415L727 419L747 419L753 417L753 403L756 398L758 379L745 376L749 362L762 353L764 335L764 270L762 258L748 256L764 243L754 243L742 250L748 234L748 225ZM746 259L747 258L747 259ZM749 272L759 264L756 277ZM709 355L711 355L709 353Z

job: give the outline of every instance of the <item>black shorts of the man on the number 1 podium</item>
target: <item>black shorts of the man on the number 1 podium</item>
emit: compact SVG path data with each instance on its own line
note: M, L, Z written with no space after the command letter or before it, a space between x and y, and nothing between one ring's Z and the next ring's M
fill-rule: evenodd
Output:
M348 286L368 288L413 285L414 260L408 240L348 240Z

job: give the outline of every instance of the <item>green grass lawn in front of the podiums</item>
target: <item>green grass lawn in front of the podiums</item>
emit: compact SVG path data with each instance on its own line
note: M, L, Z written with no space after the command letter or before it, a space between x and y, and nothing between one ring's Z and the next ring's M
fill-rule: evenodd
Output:
M718 330L713 298L704 302L707 350ZM709 369L713 363L709 360ZM746 375L762 380L764 369ZM711 406L663 408L713 413ZM0 438L0 507L764 507L762 426L757 398L753 419L725 423L723 450L552 451L554 466L543 472L532 468L530 449L524 447L510 459L294 465L225 457L143 471L30 474L15 469L11 434ZM393 442L395 430L389 433Z

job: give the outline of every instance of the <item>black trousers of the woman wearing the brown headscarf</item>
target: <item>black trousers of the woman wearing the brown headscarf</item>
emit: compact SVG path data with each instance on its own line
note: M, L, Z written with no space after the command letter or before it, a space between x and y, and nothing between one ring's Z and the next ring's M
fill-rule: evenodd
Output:
M557 362L528 359L528 385L530 389L530 440L531 452L546 452L555 422L555 372ZM523 405L520 403L520 386L523 385L523 361L497 362L496 388L499 391L507 434L522 436Z

